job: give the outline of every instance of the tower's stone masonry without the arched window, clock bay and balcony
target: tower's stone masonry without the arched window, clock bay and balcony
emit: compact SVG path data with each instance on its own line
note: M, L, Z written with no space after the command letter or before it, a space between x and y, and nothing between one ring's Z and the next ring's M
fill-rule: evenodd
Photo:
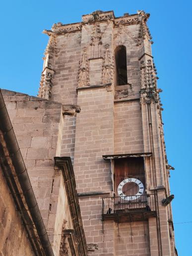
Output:
M68 25L59 23L53 29L53 33L56 33L54 35L59 57L56 57L54 67L56 72L52 99L59 102L65 100L64 103L72 102L81 107L76 121L75 118L65 119L62 153L72 157L74 155L75 179L80 193L87 243L99 245L98 250L90 252L95 256L127 255L127 251L130 255L157 254L157 238L150 236L149 239L149 233L157 234L160 230L158 227L154 231L154 219L151 219L149 224L145 222L144 226L140 222L132 223L133 236L130 239L128 223L120 224L123 229L120 237L117 231L114 231L117 228L114 222L105 221L104 234L101 231L101 198L102 195L113 195L111 164L104 161L102 155L140 153L146 148L148 150L145 152L151 152L152 148L150 139L147 138L149 119L139 104L141 88L146 87L148 90L156 81L152 76L155 70L152 70L152 42L146 25L148 17L149 14L143 11L118 18L114 16L113 11L96 11L83 15L83 22ZM118 46L125 46L127 52L128 84L121 86L116 84L115 49ZM145 59L146 62L143 62ZM75 75L78 82L74 79ZM149 85L150 81L152 83ZM156 93L155 86L152 94ZM143 97L148 97L147 90ZM149 102L150 100L147 101ZM157 110L154 109L151 113L156 150L160 145ZM154 173L157 181L163 182L163 179L160 179L163 178L160 175L163 161L160 161L161 156L157 151L154 153L156 170L150 172L150 168L146 168L146 178L151 179L146 179L146 183L150 185ZM90 192L97 192L97 195L85 196ZM160 206L160 201L158 204ZM160 217L159 221L163 223L167 221L167 213L165 209L161 210L164 217ZM170 246L167 226L165 233L166 235L161 232L162 241L166 240L162 254L168 255ZM160 233L158 237L160 239Z

